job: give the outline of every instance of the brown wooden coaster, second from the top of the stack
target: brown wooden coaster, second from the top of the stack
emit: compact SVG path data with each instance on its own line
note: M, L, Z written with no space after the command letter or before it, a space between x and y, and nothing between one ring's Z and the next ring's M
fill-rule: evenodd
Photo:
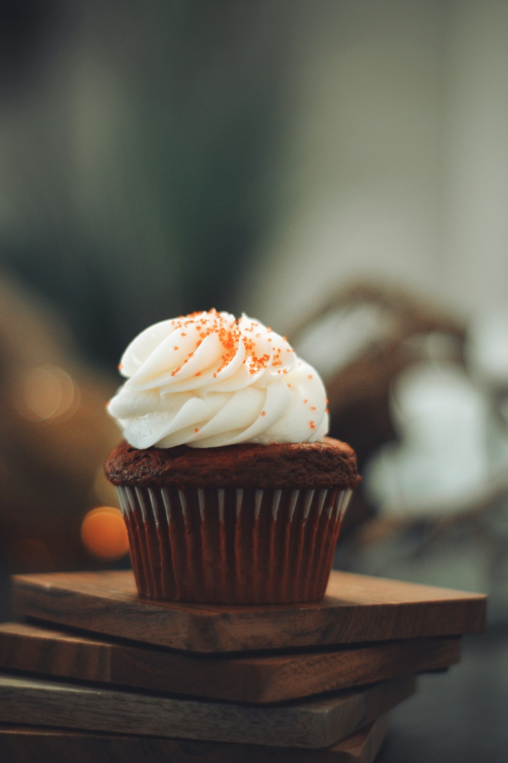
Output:
M62 633L27 623L0 624L0 667L168 691L266 703L448 668L461 641L407 639L321 652L246 656L186 655Z

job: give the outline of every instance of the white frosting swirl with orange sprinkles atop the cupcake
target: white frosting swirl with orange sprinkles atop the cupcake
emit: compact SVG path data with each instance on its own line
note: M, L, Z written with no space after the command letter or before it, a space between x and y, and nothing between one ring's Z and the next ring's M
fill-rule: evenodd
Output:
M318 372L286 338L215 310L163 320L123 353L108 410L135 448L313 443L328 430Z

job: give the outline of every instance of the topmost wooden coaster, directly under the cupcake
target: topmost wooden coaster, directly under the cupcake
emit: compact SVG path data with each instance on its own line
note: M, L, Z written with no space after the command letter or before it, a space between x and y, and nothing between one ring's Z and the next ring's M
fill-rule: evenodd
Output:
M458 636L484 629L486 597L332 571L312 604L230 606L142 599L132 571L13 578L14 610L191 652L235 652Z

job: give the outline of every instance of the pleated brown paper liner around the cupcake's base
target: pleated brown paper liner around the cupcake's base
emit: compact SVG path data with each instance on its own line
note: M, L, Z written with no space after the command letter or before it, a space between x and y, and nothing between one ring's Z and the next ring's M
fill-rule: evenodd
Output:
M143 596L282 604L324 596L350 490L117 488Z

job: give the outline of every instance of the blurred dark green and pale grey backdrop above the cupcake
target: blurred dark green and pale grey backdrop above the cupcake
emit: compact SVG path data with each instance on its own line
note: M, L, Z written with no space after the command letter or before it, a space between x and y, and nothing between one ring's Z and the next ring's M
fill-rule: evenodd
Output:
M2 0L0 267L110 368L350 278L508 297L505 0Z

